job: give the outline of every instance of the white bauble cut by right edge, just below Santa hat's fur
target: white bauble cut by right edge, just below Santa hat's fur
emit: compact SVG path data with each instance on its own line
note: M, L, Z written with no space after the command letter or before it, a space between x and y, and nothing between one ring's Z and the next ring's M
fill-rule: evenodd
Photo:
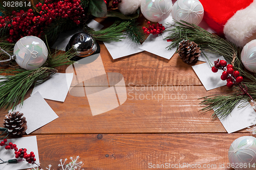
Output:
M245 68L251 72L256 72L256 40L248 42L242 50L241 60Z

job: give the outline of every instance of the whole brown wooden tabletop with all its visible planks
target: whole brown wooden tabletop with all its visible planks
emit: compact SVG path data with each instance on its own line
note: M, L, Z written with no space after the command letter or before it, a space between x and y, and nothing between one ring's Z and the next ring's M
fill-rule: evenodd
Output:
M87 97L68 94L64 103L46 100L59 118L31 134L37 136L41 167L52 164L56 170L61 158L79 155L84 169L154 169L157 164L168 166L158 169L231 169L230 144L250 134L227 134L219 119L211 118L212 111L199 112L203 107L198 100L224 94L226 86L206 91L193 64L178 55L167 60L141 52L113 60L103 43L100 48L105 71L122 74L130 95L121 106L96 116ZM58 69L65 72L66 66ZM142 88L147 85L155 89ZM138 99L146 94L159 98ZM164 94L173 97L160 99ZM6 114L2 109L0 119Z

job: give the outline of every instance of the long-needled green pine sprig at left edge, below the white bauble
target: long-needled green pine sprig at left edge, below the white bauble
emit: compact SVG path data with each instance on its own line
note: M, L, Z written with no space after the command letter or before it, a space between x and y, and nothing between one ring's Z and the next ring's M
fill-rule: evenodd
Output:
M19 100L23 105L25 94L29 88L35 82L42 83L46 81L55 72L57 72L55 68L49 67L39 67L26 71L20 69L1 70L0 74L9 73L15 76L0 77L0 80L3 80L0 82L0 108L5 107L14 110Z

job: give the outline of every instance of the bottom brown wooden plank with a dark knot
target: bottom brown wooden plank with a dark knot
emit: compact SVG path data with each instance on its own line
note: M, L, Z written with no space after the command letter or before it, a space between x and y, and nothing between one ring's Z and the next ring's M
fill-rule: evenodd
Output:
M231 169L227 168L230 144L245 135L67 134L38 135L37 142L41 166L52 164L53 169L57 169L59 159L78 155L84 169L141 170L167 163L169 168L158 169L194 169L197 166L196 169L216 170ZM223 164L225 168L220 167Z

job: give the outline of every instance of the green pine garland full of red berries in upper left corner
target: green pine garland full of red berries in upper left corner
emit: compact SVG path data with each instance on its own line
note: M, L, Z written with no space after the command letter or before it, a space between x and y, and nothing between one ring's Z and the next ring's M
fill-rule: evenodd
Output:
M115 3L114 3L115 2ZM114 1L114 4L118 2ZM120 1L121 2L121 1ZM112 3L112 4L113 4ZM115 7L115 6L114 6ZM106 2L102 0L44 0L39 1L35 7L17 7L14 11L8 11L0 4L0 10L5 14L0 16L0 60L7 59L4 53L13 54L15 42L24 36L37 36L51 46L59 33L77 27L83 28L84 32L92 35L100 41L120 41L125 38L124 34L139 44L144 41L145 35L138 27L134 18L139 16L139 10L133 15L123 15L113 11L115 17L129 19L120 20L116 18L115 23L109 28L94 31L86 22L96 16L108 15ZM0 108L14 109L19 100L23 104L25 94L35 83L43 83L57 72L55 67L70 65L70 61L76 54L69 52L51 52L48 46L48 58L44 65L32 70L25 70L8 62L0 66L8 66L8 69L0 69L0 74L9 76L0 77Z

